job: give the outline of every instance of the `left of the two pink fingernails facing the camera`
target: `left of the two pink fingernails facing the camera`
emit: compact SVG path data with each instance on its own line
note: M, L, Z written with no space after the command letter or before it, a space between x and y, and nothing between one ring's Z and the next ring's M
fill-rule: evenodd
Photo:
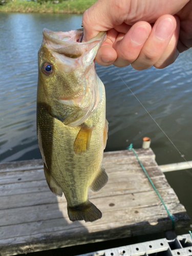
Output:
M130 37L136 45L142 45L148 37L148 32L144 26L138 26L134 28Z

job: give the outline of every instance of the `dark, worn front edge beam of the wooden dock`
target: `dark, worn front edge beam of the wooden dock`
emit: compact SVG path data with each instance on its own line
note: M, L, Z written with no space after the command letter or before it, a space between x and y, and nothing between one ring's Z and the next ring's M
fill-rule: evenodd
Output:
M185 221L186 222L186 221ZM180 225L185 224L184 221L177 222L176 226L179 227ZM162 222L160 222L158 225L151 226L150 224L147 224L145 222L141 223L139 226L134 227L133 230L130 230L130 226L124 225L123 228L112 228L109 230L105 230L103 232L94 232L89 234L89 236L84 236L83 232L81 230L78 230L78 234L69 234L68 239L63 238L62 234L61 236L58 236L56 239L51 239L48 236L47 240L41 240L42 236L44 234L38 234L35 235L35 240L30 241L29 243L25 244L14 244L14 245L5 245L2 247L1 255L2 256L9 256L9 255L16 255L21 253L29 253L29 252L36 252L36 251L42 251L42 250L48 250L48 249L55 249L55 248L61 248L66 246L73 246L73 245L79 245L79 244L86 244L87 240L89 239L90 243L94 242L100 242L105 240L112 240L112 239L121 239L121 238L127 238L131 236L136 236L142 234L148 234L148 233L154 233L154 232L162 232L162 230L169 230L171 228L170 221L167 219L164 219ZM150 230L148 232L146 231L146 226L150 226ZM153 230L153 231L152 231ZM97 237L97 239L95 239ZM23 237L23 240L27 241L26 237ZM15 240L16 241L16 240ZM14 253L12 253L14 251Z

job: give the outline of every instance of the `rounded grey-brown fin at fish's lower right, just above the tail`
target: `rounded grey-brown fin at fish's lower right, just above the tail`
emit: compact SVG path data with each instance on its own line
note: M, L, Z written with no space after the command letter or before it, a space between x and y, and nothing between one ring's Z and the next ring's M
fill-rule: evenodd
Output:
M94 192L100 190L108 182L108 175L105 172L103 166L100 166L100 171L95 177L94 181L90 185L91 190Z

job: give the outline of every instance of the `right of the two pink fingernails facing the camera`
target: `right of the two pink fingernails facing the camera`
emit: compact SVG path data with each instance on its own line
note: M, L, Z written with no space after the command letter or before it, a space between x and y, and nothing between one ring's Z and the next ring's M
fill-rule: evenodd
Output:
M170 36L173 30L174 30L174 25L173 25L172 19L165 18L158 23L155 29L155 35L158 39L163 41Z

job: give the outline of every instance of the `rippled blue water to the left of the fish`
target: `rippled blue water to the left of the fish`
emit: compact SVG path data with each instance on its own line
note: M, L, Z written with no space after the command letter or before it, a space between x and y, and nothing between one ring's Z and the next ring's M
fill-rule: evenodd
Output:
M80 15L1 13L1 161L41 158L36 139L36 87L42 29L80 28L81 18Z

